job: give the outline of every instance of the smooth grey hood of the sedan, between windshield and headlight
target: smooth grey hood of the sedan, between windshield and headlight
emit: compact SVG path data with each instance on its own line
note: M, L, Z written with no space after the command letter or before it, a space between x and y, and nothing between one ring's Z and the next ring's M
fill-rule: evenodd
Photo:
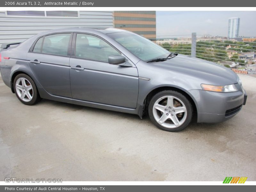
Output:
M238 78L232 70L219 64L181 54L170 60L153 63L153 65L175 74L203 79L202 82L209 84L235 84Z

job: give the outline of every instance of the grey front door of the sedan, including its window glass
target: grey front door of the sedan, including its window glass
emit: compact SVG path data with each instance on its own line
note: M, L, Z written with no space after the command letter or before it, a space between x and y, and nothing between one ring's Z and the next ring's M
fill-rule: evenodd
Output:
M108 63L111 55L121 53L100 37L74 34L70 58L72 96L78 100L136 108L137 68L128 59L132 67L111 65Z

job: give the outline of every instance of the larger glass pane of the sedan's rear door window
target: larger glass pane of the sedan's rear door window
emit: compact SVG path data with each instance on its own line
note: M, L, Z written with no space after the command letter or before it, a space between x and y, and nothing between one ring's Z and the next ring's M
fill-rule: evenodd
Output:
M70 33L65 33L45 36L42 53L67 56L70 35Z

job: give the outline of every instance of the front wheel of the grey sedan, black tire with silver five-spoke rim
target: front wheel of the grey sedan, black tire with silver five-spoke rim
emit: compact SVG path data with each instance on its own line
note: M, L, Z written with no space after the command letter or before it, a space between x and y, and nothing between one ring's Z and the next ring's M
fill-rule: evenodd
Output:
M191 122L193 107L185 95L165 90L156 93L148 106L150 120L164 131L178 132Z

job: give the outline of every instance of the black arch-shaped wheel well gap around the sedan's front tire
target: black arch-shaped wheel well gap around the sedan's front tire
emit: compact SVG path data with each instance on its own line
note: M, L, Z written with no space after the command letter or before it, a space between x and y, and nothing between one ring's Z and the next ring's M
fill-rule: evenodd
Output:
M184 90L182 88L174 87L174 86L160 86L160 87L156 87L155 89L151 90L144 99L142 112L140 113L140 114L142 114L142 116L147 114L148 105L149 105L151 98L156 93L165 91L165 90L177 91L177 92L180 92L183 95L185 95L187 97L187 99L191 102L192 107L193 107L193 116L195 119L197 119L197 103L195 102L195 98L186 90Z

